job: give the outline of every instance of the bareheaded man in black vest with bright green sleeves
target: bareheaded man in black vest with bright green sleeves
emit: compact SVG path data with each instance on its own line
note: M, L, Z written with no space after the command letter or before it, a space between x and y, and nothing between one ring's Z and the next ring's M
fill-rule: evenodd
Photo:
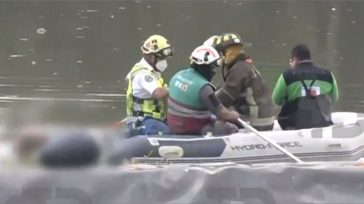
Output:
M307 45L292 50L291 69L279 77L273 102L282 105L278 122L282 130L299 130L332 125L331 102L338 100L333 74L316 67Z

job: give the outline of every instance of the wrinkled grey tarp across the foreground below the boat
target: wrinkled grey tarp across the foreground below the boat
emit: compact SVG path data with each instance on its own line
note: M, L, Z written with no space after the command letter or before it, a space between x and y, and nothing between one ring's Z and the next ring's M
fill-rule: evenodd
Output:
M143 165L144 166L144 165ZM364 203L348 164L0 170L1 204Z

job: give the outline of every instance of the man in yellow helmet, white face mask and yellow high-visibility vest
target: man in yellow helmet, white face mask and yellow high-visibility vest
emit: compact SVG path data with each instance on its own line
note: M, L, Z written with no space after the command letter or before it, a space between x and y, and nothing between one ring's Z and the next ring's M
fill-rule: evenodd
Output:
M169 41L160 35L150 36L141 47L144 57L128 73L126 94L127 124L131 135L169 133L165 124L168 88L161 73L166 58L173 56Z

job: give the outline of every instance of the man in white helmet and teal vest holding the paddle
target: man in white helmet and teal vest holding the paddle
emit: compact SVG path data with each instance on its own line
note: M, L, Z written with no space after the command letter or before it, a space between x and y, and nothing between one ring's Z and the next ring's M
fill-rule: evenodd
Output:
M237 132L238 128L232 123L238 123L239 114L221 104L211 84L222 58L213 47L202 45L192 52L190 59L191 67L176 73L169 82L167 123L170 131L185 135L212 132L215 136Z

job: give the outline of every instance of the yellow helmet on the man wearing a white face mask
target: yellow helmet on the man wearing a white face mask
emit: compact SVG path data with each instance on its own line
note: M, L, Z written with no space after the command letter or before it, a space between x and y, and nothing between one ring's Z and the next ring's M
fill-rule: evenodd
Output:
M162 58L172 57L173 48L169 41L161 35L150 36L141 47L144 54L156 54Z

